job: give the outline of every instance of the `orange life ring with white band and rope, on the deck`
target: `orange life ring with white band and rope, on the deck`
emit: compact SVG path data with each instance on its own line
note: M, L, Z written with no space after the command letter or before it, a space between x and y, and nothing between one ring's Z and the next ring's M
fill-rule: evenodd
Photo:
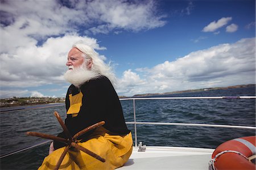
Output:
M255 155L256 136L247 136L229 140L220 144L212 154L210 167L216 170L222 169L253 169L255 164L249 161L249 157Z

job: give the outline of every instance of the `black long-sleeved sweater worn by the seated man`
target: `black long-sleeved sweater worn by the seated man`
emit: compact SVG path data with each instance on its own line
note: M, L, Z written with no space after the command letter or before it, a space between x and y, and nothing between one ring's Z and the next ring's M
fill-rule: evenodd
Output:
M65 99L67 111L70 106L69 94L75 96L80 91L83 94L82 106L77 117L72 118L72 115L68 114L65 119L65 125L72 136L85 127L100 121L105 121L103 127L113 134L129 134L130 130L127 129L125 124L121 103L107 77L101 76L94 80L89 80L81 85L80 90L74 85L69 86ZM85 138L92 132L93 131L87 132L82 138ZM64 132L61 132L58 136L67 138ZM63 146L63 143L54 142L55 149Z

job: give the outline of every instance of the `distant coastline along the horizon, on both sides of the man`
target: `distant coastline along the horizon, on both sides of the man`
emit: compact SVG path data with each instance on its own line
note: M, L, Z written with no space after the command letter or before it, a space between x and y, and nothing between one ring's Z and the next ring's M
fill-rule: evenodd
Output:
M179 94L179 93L193 93L193 92L203 92L208 90L219 90L219 89L234 89L234 88L249 88L255 87L256 84L247 84L247 85L235 85L235 86L226 86L226 87L217 87L217 88L203 88L203 89L192 89L192 90L181 90L174 92L166 93L146 93L146 94L135 94L131 97L119 96L119 98L132 98L132 97L150 97L150 96L162 96L168 94ZM2 107L13 107L13 106L28 106L28 105L42 105L48 103L64 103L64 97L11 97L0 99L0 108Z

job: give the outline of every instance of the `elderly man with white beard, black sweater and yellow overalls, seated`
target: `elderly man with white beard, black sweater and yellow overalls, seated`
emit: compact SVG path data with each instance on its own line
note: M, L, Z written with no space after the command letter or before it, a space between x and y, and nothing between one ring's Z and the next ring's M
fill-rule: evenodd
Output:
M111 68L87 45L75 44L68 53L68 71L64 78L71 82L65 99L67 118L65 125L71 135L105 121L105 125L80 137L82 147L103 157L95 159L84 152L70 150L60 169L115 169L129 159L133 150L131 131L123 118ZM64 132L58 136L68 138ZM52 145L52 144L51 144ZM54 151L43 161L39 169L53 169L64 151L63 143L53 142Z

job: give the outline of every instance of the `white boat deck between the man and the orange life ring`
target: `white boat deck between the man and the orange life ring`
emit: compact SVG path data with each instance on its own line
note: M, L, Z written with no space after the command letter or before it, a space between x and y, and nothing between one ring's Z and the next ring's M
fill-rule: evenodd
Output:
M213 149L188 147L146 147L145 152L133 148L124 169L209 169Z

